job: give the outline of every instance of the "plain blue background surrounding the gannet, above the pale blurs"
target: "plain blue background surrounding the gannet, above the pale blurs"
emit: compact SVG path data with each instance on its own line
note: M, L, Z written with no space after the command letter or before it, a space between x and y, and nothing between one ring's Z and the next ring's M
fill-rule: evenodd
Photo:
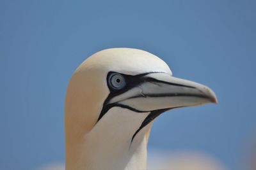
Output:
M68 80L104 48L147 50L219 104L161 115L149 148L238 169L256 135L255 1L0 1L0 169L64 162Z

